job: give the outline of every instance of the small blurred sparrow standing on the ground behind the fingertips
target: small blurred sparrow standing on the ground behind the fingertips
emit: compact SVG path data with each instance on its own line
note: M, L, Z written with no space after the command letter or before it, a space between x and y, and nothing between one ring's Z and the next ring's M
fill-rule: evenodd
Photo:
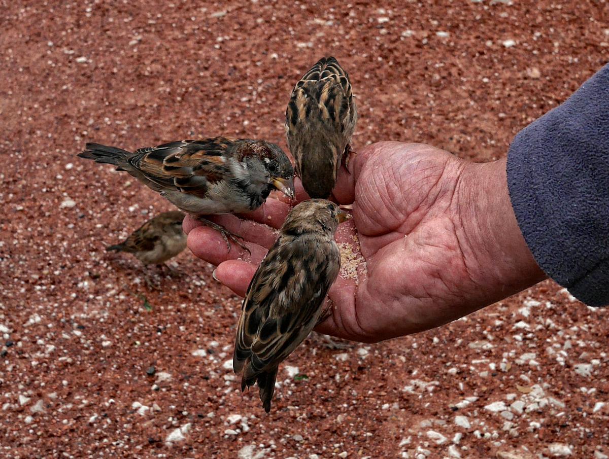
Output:
M106 247L107 251L132 253L144 266L164 264L186 248L182 231L182 212L163 212L148 220L121 244Z

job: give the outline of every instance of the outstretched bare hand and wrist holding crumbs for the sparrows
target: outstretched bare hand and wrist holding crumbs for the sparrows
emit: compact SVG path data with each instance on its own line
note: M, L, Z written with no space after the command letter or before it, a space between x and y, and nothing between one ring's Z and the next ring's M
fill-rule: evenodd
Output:
M353 203L353 219L336 239L362 263L357 282L340 276L330 289L332 314L317 331L378 342L448 323L546 278L516 223L505 159L468 163L429 145L380 142L350 169L340 170L334 197ZM238 259L238 247L228 251L218 233L189 217L188 247L244 296L289 209L270 198L245 220L213 217L244 237L251 256Z

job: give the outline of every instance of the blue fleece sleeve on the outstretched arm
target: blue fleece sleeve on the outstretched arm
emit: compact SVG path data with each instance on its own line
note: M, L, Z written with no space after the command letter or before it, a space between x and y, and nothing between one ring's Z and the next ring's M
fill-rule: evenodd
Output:
M589 306L609 304L609 65L510 145L512 206L546 274Z

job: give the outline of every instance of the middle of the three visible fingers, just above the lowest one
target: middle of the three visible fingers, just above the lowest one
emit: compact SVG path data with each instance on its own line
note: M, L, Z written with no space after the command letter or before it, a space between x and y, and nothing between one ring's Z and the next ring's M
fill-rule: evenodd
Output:
M230 242L230 250L228 250L227 242L224 240L224 237L208 226L197 226L197 228L193 228L188 234L186 245L194 256L213 265L219 265L220 263L231 259L243 259L259 263L267 253L265 247L247 241L244 245L252 254L247 253L247 250L239 247L239 245L234 242Z

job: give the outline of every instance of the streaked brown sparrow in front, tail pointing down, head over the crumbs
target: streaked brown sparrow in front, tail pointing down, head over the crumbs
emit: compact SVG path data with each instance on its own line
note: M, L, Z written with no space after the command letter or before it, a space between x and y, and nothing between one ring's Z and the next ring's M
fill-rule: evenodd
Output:
M295 206L247 289L233 370L242 371L241 391L258 383L267 413L279 364L326 317L323 301L340 270L334 231L349 217L325 199Z

